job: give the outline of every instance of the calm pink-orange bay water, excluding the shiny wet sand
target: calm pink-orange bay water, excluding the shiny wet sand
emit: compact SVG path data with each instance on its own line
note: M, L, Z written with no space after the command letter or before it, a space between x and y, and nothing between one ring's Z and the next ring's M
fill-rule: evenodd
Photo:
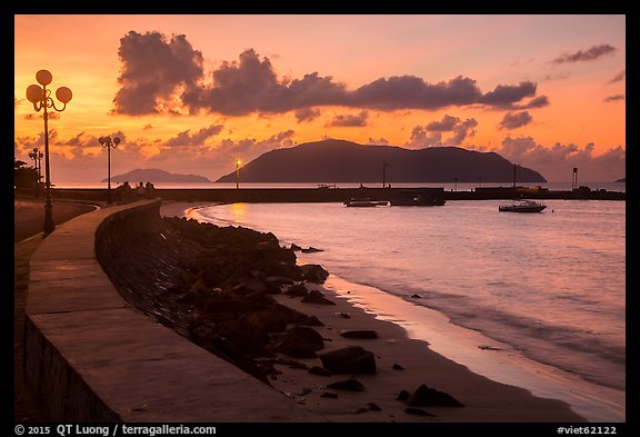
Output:
M500 202L236 203L192 216L323 249L306 260L623 391L626 203L549 200L542 213L519 215L499 212Z

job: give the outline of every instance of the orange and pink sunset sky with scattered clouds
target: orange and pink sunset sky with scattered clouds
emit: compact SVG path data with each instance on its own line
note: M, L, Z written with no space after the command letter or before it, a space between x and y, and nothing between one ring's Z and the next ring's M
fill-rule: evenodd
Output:
M49 70L52 183L138 168L211 180L326 138L493 151L570 182L626 177L623 14L14 16L14 156ZM68 87L64 107L56 90Z

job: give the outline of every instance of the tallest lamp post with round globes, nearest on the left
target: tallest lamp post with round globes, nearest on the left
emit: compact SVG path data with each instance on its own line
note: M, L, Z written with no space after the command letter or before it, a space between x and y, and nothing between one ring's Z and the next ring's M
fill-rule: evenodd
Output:
M47 88L53 77L48 70L40 70L36 73L36 80L40 85L30 85L27 88L27 99L33 103L36 112L43 111L44 118L44 237L53 232L56 225L53 224L53 206L51 205L51 169L49 166L49 108L53 108L58 112L62 112L67 108L67 103L71 101L73 93L67 87L60 87L56 91L56 98L62 102L62 108L58 109L53 98L51 98L51 90Z

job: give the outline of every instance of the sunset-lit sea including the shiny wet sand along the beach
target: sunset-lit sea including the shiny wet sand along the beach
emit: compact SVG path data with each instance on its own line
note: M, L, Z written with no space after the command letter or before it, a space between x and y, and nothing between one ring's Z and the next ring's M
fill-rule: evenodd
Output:
M539 213L502 202L180 203L164 215L321 249L298 261L329 270L340 298L477 374L590 421L624 421L626 202L550 199Z

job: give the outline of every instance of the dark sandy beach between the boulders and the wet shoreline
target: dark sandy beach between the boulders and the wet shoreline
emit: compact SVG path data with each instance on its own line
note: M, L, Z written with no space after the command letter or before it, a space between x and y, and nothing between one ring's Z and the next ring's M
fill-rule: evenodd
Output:
M161 215L180 217L189 203L166 203ZM532 396L530 391L496 383L470 371L429 348L428 341L412 339L398 324L381 320L352 304L357 290L336 290L306 282L309 290L321 292L336 305L303 302L301 297L272 295L280 304L317 317L323 326L313 327L322 339L326 352L349 346L371 351L376 359L374 375L309 371L322 368L319 357L280 356L280 373L270 375L274 389L304 405L330 421L442 421L442 423L581 423L587 421L568 404ZM344 330L374 331L377 338L346 338ZM358 390L328 387L350 381ZM347 384L349 386L349 384ZM420 386L446 393L463 407L412 407L400 400L402 391L412 395ZM409 411L409 413L408 413Z

